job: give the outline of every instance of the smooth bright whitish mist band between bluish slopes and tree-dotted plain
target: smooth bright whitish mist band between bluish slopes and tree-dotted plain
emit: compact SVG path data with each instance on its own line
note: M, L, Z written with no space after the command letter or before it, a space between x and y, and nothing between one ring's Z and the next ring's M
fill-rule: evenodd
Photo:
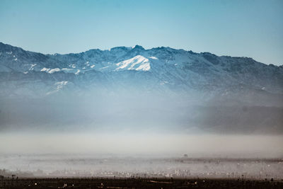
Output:
M282 135L158 134L133 132L6 133L2 154L90 154L94 156L278 158Z

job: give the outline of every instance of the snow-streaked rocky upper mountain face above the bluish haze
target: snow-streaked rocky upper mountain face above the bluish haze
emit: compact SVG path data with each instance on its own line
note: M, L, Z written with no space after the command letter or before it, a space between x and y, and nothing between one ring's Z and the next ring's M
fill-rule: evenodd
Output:
M43 55L0 43L1 96L138 90L203 93L207 98L238 93L282 96L283 66L247 57L218 57L157 47L114 47L67 55Z

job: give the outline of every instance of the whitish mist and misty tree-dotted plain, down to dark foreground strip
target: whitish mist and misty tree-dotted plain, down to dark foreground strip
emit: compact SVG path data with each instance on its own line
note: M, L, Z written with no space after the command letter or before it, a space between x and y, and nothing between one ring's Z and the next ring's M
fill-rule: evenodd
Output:
M279 180L282 142L282 135L6 133L0 175Z

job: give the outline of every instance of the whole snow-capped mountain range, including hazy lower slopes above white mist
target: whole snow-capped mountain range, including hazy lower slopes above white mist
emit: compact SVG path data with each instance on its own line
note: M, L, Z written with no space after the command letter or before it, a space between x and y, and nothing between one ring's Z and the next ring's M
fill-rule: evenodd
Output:
M248 57L139 45L44 55L0 42L0 88L0 130L283 132L283 66Z

